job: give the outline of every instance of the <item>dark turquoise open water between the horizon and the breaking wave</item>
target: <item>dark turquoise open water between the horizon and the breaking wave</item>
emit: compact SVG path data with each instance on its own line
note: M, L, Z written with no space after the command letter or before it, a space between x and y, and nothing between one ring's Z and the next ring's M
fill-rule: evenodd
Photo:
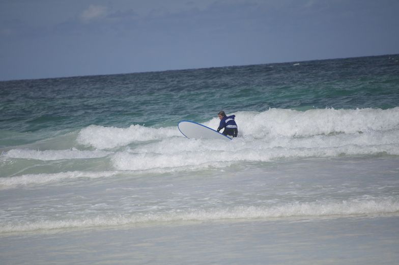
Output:
M0 82L0 128L174 126L182 119L208 121L220 109L393 108L398 57Z

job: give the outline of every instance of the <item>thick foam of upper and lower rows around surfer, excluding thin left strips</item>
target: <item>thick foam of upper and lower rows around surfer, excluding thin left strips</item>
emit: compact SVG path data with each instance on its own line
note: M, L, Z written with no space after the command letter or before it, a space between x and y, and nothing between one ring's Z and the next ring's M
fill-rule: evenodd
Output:
M399 155L399 107L392 109L269 109L239 111L239 137L230 142L187 139L177 127L114 128L90 126L78 141L98 149L132 142L110 155L117 170L192 170L234 162L281 158ZM216 129L215 117L204 125ZM147 141L147 142L146 142Z

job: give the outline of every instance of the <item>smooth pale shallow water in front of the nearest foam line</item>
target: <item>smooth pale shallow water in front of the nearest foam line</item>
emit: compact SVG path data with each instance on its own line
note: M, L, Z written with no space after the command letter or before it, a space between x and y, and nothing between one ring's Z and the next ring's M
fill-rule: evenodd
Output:
M397 217L204 222L19 235L6 264L395 264ZM7 243L5 243L7 241Z

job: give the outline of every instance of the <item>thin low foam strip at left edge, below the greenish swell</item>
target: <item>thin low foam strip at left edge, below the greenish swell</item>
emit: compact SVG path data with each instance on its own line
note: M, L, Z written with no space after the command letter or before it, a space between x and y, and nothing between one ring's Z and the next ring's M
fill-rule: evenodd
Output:
M117 171L67 171L59 173L24 174L0 178L0 188L9 189L21 185L44 184L77 178L106 178L118 174Z

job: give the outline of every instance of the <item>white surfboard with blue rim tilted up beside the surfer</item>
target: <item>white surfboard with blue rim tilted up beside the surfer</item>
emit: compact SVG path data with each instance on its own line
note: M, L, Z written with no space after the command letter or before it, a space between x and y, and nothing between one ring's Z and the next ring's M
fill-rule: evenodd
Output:
M232 138L225 136L212 128L209 128L200 123L191 121L180 121L177 125L179 131L187 138L209 138L209 139L222 139L231 140Z

